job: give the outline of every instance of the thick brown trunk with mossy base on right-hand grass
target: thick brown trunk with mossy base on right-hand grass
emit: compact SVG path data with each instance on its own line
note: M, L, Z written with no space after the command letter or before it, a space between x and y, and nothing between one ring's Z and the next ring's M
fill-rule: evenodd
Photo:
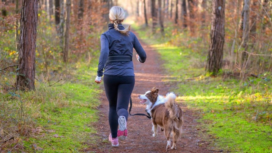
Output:
M222 68L225 36L225 0L212 1L212 20L206 71L216 75Z

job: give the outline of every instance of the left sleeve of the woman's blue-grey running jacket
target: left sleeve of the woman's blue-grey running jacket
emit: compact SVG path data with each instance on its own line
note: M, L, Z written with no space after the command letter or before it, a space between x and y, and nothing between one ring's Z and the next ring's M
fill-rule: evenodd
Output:
M98 70L97 70L97 76L103 76L103 70L105 67L105 63L107 62L108 59L108 54L109 54L109 42L108 39L105 35L101 35L101 52L100 52L100 57L99 57L99 62L98 62Z

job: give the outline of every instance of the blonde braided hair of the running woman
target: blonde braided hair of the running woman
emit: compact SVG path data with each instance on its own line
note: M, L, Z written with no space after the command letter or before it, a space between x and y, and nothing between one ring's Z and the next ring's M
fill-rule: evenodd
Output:
M112 6L109 10L109 18L114 24L114 29L119 31L123 35L129 35L130 32L130 25L125 28L124 30L119 30L118 24L121 23L125 18L124 10L119 6Z

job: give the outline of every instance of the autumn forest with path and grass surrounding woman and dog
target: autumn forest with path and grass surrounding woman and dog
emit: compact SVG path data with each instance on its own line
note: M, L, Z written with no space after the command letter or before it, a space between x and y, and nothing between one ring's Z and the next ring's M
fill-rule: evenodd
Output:
M272 0L0 0L0 152L166 151L140 116L133 139L107 140L94 79L112 6L147 53L133 59L132 111L155 86L182 107L172 152L271 152Z

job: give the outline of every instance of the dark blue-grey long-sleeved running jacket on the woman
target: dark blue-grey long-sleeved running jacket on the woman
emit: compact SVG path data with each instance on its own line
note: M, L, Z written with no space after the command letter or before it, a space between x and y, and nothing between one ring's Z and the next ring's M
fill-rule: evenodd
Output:
M125 29L122 24L118 24L120 30ZM101 35L101 52L98 62L97 76L134 76L133 62L113 62L107 63L108 56L126 54L133 55L135 48L139 55L139 61L145 62L146 54L137 37L130 32L129 36L123 35L114 29L114 24L108 24L108 31ZM106 65L105 65L106 64Z

